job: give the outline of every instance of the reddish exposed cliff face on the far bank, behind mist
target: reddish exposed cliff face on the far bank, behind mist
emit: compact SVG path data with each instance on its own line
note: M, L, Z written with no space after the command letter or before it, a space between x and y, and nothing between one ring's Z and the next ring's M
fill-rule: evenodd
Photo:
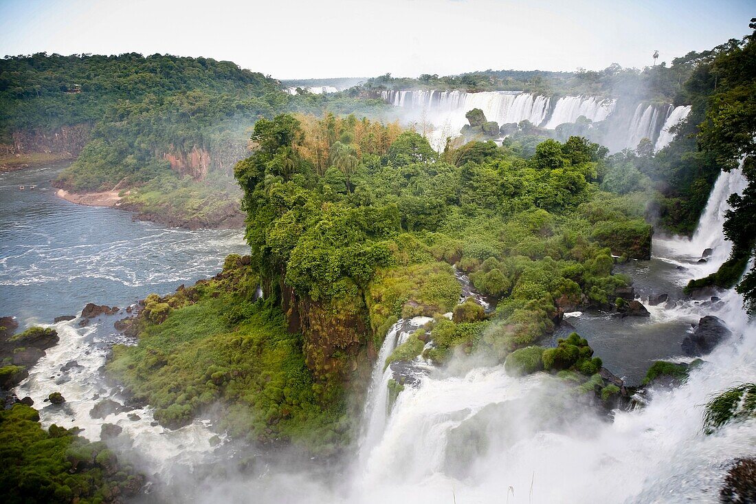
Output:
M212 148L195 145L188 152L172 145L163 153L163 159L171 163L171 170L176 173L202 180L210 171L220 171L232 176L234 165L248 154L246 141L228 141Z

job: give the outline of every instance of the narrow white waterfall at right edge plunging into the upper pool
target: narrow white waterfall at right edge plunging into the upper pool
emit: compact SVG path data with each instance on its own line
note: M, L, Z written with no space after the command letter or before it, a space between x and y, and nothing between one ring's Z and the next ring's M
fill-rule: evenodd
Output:
M661 248L663 254L693 261L699 260L703 251L710 248L711 257L708 257L707 262L696 263L696 275L700 277L716 272L730 257L730 251L733 249L733 244L724 239L722 232L724 213L730 209L727 198L730 198L730 194L741 193L746 185L748 185L748 180L740 169L720 173L717 182L714 182L714 188L711 189L708 202L699 219L699 225L692 237L660 239L655 242L655 247Z

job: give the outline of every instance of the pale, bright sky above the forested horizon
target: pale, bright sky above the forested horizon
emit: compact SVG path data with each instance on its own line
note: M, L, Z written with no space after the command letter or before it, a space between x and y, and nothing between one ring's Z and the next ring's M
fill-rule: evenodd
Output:
M0 54L169 53L277 79L644 67L749 33L756 0L0 0Z

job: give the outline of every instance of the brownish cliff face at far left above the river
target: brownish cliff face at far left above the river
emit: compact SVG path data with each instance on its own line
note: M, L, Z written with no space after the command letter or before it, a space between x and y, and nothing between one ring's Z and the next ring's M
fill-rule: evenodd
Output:
M76 157L89 142L90 131L91 126L88 124L76 124L57 129L24 129L13 132L12 151L8 154L44 152Z

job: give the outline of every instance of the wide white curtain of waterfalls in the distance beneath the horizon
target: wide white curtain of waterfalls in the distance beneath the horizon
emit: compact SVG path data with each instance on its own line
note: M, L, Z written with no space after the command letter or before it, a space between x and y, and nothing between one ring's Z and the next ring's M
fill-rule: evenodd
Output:
M544 129L556 129L562 124L577 123L584 117L590 123L587 136L612 151L635 149L643 138L649 138L658 151L674 138L671 126L677 125L690 112L688 105L674 107L640 102L618 107L618 101L610 98L551 98L515 91L386 90L381 92L381 98L407 110L408 120L422 123L423 132L438 149L443 148L445 138L459 135L467 123L465 114L473 108L483 110L488 120L496 121L500 126L528 120ZM628 106L631 107L629 110ZM591 127L598 125L604 126Z

